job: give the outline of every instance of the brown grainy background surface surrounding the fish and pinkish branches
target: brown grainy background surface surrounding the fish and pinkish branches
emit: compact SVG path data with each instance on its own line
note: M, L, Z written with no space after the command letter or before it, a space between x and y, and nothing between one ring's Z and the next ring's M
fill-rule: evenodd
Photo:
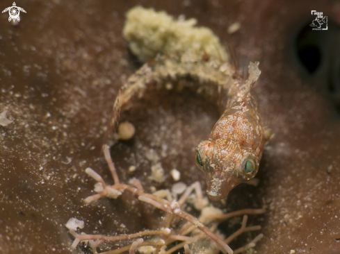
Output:
M0 253L80 253L70 249L70 217L83 219L85 232L107 235L156 225L129 196L81 201L95 183L86 167L112 183L101 146L118 89L138 69L122 38L124 13L137 4L195 17L236 51L241 66L260 61L254 90L275 137L259 186L241 185L227 200L228 210L268 205L258 253L339 253L340 4L217 0L19 1L27 13L18 26L0 15L0 111L7 108L13 120L0 126ZM11 5L1 1L0 9ZM311 10L328 16L327 31L311 31ZM241 29L228 35L234 22ZM318 63L314 71L299 58L303 49L310 49L307 62ZM120 177L170 187L168 175L163 185L148 180L145 160L145 151L169 149L163 168L204 184L193 147L209 135L216 107L193 94L152 96L131 114L135 139L111 149ZM127 171L131 164L138 164L135 173Z

